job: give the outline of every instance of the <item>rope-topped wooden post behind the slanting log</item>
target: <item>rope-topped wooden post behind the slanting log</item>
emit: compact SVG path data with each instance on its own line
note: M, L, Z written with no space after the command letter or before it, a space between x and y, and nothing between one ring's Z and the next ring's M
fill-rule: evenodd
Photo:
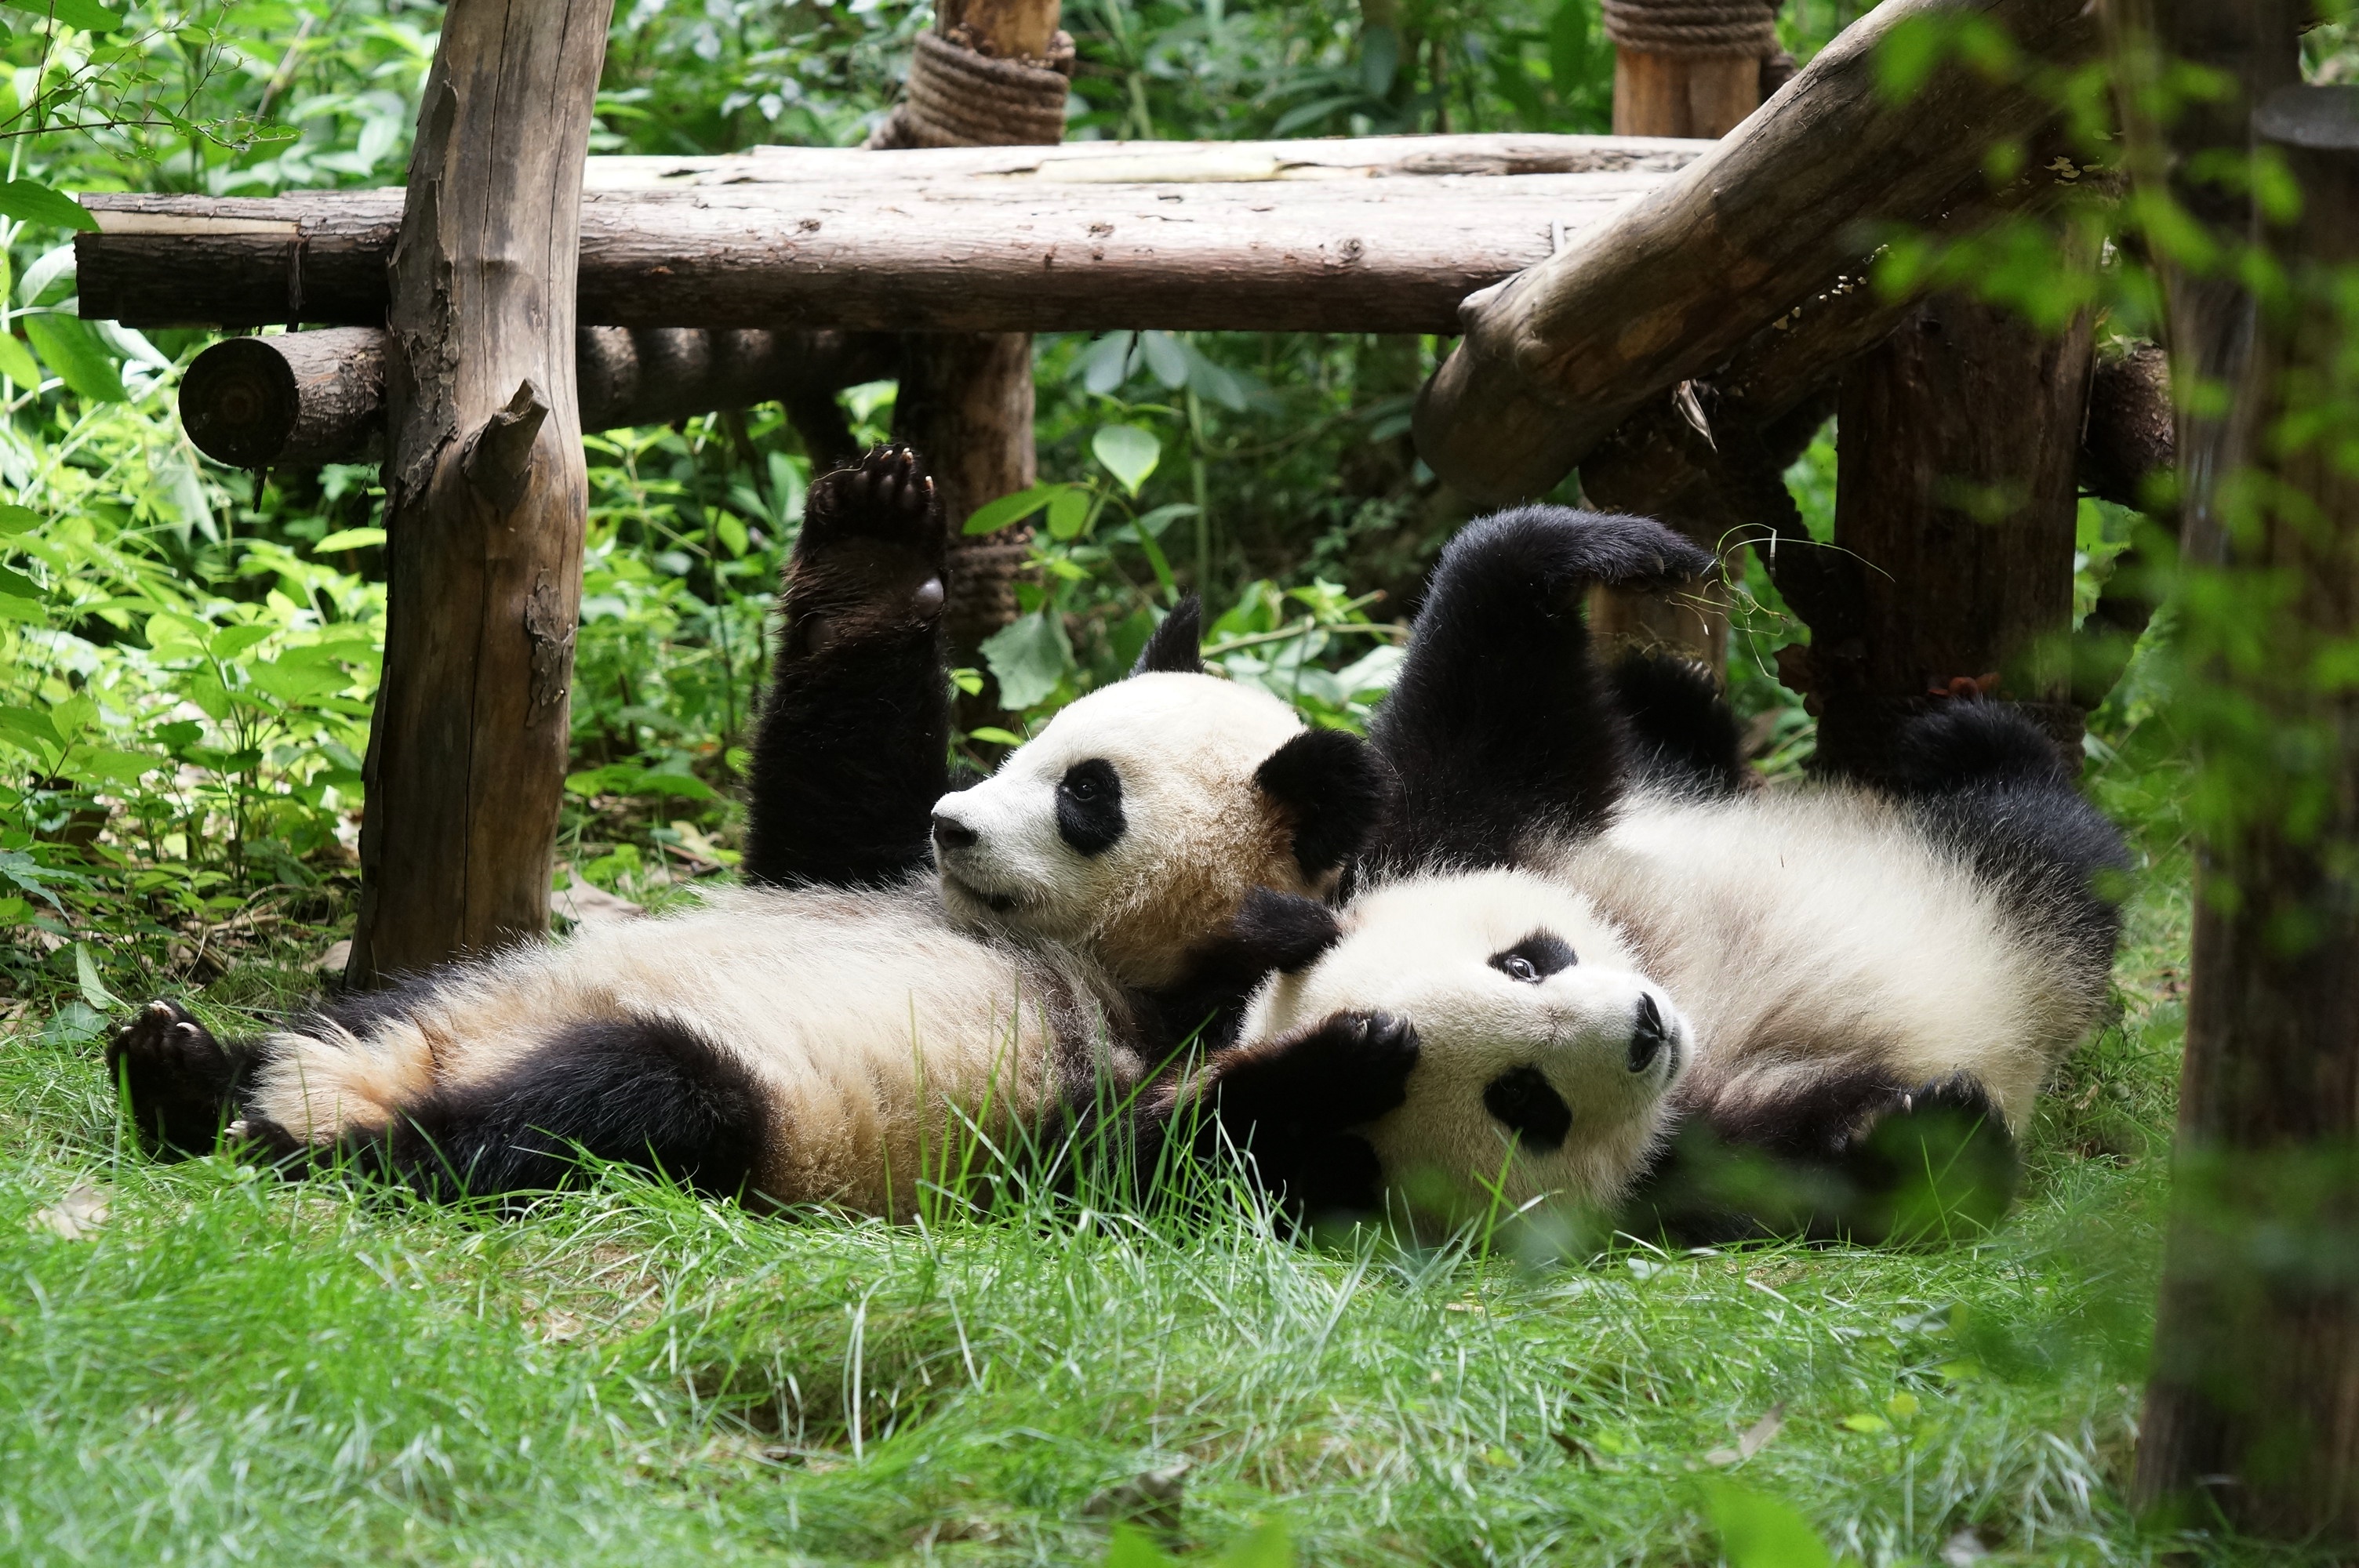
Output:
M1614 134L1616 137L1724 137L1762 101L1762 57L1776 47L1776 9L1753 5L1753 28L1762 38L1746 40L1743 26L1720 26L1734 42L1715 42L1706 24L1703 42L1680 42L1670 19L1677 9L1621 0L1606 7L1606 31L1614 35ZM1656 47L1647 47L1647 42ZM1670 523L1706 549L1720 549L1715 509L1661 512ZM1663 648L1684 653L1727 681L1729 674L1729 594L1720 580L1696 582L1677 594L1642 594L1625 587L1590 589L1590 630L1604 644Z

